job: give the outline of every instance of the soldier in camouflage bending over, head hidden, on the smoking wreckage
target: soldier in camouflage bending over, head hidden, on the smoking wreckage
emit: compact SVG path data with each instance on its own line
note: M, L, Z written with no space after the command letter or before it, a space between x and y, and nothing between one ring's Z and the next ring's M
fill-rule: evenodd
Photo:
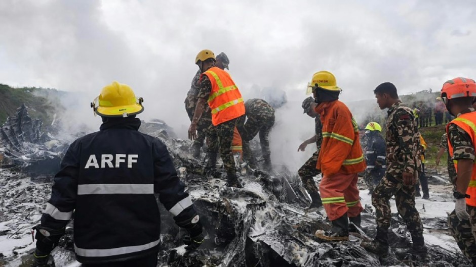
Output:
M268 136L274 126L274 109L263 99L253 98L245 102L245 110L246 118L241 117L237 125L243 142L243 157L252 169L256 169L250 141L259 133L264 169L270 171L271 151L269 150Z

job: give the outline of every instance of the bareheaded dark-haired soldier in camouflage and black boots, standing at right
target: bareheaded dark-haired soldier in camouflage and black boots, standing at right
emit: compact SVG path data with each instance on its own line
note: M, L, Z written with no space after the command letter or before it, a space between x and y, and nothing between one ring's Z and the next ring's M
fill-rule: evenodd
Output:
M411 254L425 257L423 225L415 208L415 182L420 162L420 136L413 112L404 105L392 83L382 83L374 90L380 109L388 108L386 128L387 170L372 194L377 221L377 236L372 242L362 242L368 251L384 255L388 251L388 228L391 222L389 200L395 196L396 207L410 231Z

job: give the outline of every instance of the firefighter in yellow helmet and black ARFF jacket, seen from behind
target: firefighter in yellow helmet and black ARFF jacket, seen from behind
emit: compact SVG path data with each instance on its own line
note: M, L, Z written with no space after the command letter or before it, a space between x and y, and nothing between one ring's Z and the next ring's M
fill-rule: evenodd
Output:
M75 140L56 174L51 198L35 227L35 262L49 266L50 252L74 210L74 251L87 266L156 266L160 214L154 193L188 234L187 249L204 241L202 224L184 192L167 147L138 132L142 98L113 82L91 106L99 132Z

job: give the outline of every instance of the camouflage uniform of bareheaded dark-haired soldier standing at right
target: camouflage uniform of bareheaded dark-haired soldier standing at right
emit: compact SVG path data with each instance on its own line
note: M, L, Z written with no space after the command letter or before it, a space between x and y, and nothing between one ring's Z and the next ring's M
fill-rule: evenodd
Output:
M412 237L422 237L423 225L415 208L415 186L405 185L402 177L403 172L413 173L416 180L421 169L420 136L412 110L396 102L388 110L385 128L387 170L372 194L377 226L390 227L389 200L394 195L396 207Z

